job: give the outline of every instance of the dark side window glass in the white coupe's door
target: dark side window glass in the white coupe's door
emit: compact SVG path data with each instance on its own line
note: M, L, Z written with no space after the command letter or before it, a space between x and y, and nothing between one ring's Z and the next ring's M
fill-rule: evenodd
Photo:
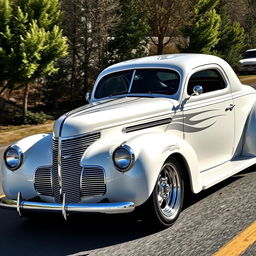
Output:
M196 85L203 87L203 93L213 92L226 88L223 77L216 69L206 69L193 74L188 81L187 93L191 95Z

